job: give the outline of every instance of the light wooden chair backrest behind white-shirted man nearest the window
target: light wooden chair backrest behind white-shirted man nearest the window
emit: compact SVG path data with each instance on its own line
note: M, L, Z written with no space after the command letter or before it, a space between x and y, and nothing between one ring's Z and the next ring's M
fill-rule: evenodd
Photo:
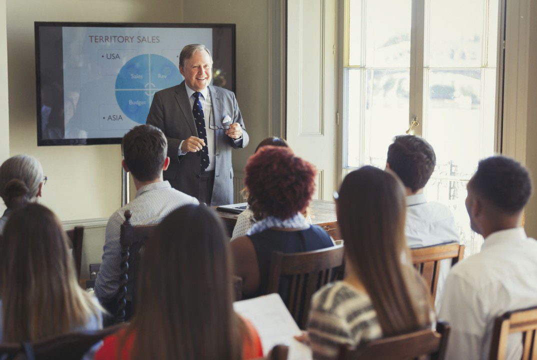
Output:
M445 259L451 259L451 266L455 265L465 255L465 246L458 242L453 242L410 249L410 254L414 267L422 274L427 286L429 286L434 301L436 298L440 262Z

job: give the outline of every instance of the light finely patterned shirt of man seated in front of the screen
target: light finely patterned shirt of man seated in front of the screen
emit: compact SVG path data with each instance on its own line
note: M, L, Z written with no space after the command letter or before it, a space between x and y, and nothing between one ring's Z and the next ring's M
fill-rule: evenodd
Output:
M121 274L121 244L119 234L121 224L125 221L124 213L130 210L133 226L158 224L176 208L199 204L198 199L183 192L172 189L167 181L142 186L134 200L114 212L106 226L105 244L103 249L103 262L100 265L95 282L95 294L101 304L112 300L119 289L119 276ZM132 285L127 284L127 300L132 300Z

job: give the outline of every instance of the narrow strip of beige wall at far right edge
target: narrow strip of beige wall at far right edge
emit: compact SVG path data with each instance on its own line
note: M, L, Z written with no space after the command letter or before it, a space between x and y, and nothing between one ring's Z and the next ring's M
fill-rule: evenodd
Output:
M526 207L526 232L537 238L537 0L531 0L530 14L526 166L532 172L534 195Z

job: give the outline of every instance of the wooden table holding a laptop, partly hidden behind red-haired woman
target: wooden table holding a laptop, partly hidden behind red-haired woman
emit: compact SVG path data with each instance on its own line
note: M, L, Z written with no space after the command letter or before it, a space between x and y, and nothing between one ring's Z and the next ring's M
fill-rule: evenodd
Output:
M216 208L215 208L216 210ZM238 214L216 210L218 215L228 229L229 236L233 233L233 228L237 223ZM318 225L325 229L326 232L333 237L334 240L340 240L341 237L338 234L336 229L336 204L333 201L324 201L324 200L312 200L309 205L309 212L311 215L311 223Z

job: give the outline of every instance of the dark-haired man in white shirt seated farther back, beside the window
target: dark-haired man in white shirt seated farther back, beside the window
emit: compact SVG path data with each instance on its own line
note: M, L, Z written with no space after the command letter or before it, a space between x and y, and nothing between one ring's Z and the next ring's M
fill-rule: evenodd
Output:
M459 242L459 229L449 208L437 201L427 201L423 188L436 165L436 155L429 142L413 135L396 136L388 147L386 168L395 172L407 192L405 235L410 248ZM440 305L451 260L440 262L435 306Z

